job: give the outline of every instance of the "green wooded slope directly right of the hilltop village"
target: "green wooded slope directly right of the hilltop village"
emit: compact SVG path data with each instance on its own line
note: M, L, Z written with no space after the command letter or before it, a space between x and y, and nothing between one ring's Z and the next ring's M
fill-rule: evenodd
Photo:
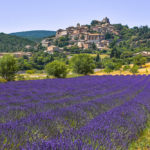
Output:
M148 26L129 28L127 25L114 25L119 31L119 36L115 37L110 47L114 46L120 51L150 51L150 28ZM119 41L119 42L118 42Z

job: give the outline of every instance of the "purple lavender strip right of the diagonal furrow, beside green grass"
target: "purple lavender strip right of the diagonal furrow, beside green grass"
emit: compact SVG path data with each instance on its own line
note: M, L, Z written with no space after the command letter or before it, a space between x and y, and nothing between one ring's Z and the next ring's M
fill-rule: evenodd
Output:
M132 100L95 117L79 130L70 130L50 141L29 144L27 148L126 150L145 128L150 113L149 91L150 85L147 85Z

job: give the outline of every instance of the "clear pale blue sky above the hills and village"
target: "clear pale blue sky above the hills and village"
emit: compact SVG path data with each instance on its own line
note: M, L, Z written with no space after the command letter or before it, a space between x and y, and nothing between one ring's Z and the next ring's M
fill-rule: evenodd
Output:
M150 26L150 0L0 0L0 32L57 30L110 18Z

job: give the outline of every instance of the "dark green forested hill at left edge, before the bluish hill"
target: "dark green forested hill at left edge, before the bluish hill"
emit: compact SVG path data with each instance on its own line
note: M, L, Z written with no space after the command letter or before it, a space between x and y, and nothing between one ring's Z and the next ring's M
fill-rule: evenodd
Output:
M36 43L15 35L0 33L0 52L25 51L27 45L33 48Z

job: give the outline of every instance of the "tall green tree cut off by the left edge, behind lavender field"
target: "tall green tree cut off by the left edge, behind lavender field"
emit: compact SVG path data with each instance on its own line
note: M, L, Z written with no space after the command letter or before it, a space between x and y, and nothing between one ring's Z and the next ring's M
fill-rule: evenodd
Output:
M0 59L0 76L7 81L13 81L18 71L16 59L11 55L5 55Z

